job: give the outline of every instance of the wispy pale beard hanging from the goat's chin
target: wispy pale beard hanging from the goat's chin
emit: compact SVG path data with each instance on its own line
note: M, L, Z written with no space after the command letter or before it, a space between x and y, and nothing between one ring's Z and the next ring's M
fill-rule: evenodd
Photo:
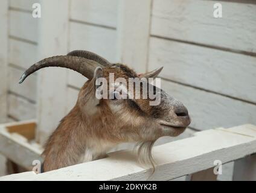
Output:
M155 161L152 156L152 148L155 141L138 142L135 145L138 161L141 165L151 166L152 174L155 172Z

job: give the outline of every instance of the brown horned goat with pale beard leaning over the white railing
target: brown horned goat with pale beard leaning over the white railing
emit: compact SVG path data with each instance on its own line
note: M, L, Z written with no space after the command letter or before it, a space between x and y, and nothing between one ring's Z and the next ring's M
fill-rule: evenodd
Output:
M72 51L40 60L22 75L22 83L33 72L51 66L69 68L89 80L78 93L74 108L59 123L42 153L43 171L100 159L115 145L138 142L139 157L152 163L151 149L162 136L178 136L190 124L186 107L161 91L161 103L150 106L149 99L98 99L95 81L99 77L157 77L162 68L136 74L126 65L112 64L89 51ZM109 84L109 83L108 83Z

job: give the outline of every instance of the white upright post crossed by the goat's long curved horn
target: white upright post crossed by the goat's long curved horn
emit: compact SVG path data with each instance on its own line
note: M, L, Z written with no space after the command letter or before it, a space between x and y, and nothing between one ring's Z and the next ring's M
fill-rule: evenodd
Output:
M68 52L68 0L39 1L43 16L39 22L39 59ZM59 8L61 5L61 8ZM56 14L58 10L58 14ZM54 16L54 18L53 18ZM56 21L57 24L56 25ZM48 68L38 76L36 139L43 144L65 116L66 69Z

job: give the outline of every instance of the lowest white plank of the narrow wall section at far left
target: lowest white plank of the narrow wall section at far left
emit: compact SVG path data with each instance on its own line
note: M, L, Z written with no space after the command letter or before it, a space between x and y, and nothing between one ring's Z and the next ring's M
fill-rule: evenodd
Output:
M19 96L9 94L8 115L11 115L18 120L36 118L36 104L33 104Z

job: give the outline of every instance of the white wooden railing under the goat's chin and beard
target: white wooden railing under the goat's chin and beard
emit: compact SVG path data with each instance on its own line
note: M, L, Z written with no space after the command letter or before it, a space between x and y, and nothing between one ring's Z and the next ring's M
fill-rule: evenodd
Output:
M154 147L153 174L139 165L135 152L124 150L92 162L42 174L12 174L0 180L171 180L188 175L188 180L216 180L220 165L231 161L235 161L234 180L256 180L255 153L256 127L247 124L200 131L191 138Z

